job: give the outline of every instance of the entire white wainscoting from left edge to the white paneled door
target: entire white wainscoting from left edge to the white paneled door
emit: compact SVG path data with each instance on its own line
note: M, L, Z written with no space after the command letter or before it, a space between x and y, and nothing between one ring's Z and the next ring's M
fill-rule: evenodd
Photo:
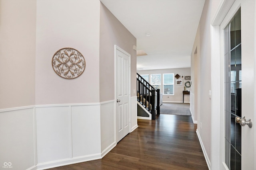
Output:
M102 158L116 146L114 103L0 109L0 167L43 170Z

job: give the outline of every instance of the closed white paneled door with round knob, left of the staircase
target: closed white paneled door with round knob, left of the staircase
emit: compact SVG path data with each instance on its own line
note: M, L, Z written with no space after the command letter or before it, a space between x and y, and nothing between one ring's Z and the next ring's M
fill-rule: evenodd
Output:
M130 54L115 46L116 143L130 132Z

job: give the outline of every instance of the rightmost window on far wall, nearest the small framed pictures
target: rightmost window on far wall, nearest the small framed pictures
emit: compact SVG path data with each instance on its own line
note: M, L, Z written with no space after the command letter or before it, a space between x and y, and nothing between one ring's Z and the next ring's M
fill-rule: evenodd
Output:
M164 94L174 95L174 74L163 74Z

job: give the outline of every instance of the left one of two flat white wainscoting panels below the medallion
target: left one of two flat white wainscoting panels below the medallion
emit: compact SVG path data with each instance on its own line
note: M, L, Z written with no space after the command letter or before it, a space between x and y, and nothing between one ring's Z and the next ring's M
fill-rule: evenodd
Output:
M36 108L38 163L72 158L70 106Z

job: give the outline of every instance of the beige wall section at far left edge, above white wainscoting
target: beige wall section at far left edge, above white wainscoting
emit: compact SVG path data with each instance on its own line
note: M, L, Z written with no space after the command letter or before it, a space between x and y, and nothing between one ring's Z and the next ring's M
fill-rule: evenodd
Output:
M35 0L0 1L0 37L0 109L34 105Z

